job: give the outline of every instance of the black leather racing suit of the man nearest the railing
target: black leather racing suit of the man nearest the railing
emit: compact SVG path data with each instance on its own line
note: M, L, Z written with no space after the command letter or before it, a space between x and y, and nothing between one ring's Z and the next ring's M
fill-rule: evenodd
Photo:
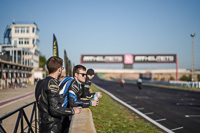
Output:
M58 81L50 76L36 85L35 98L39 111L40 133L60 133L61 117L74 114L72 109L62 107L58 92Z

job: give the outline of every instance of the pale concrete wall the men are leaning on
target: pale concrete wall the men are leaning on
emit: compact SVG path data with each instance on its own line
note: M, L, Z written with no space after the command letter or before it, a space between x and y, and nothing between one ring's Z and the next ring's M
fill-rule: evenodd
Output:
M80 114L72 116L69 133L96 133L92 112L89 108L84 108Z

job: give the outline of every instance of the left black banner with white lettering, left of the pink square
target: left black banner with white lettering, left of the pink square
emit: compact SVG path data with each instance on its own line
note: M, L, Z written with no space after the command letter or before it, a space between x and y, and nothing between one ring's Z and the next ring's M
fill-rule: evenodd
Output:
M82 55L82 63L123 63L123 55Z

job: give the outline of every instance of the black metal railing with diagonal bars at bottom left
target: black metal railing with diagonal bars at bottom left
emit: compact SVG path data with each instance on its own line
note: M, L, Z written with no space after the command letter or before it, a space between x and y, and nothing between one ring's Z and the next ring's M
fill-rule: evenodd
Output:
M32 109L32 113L31 113L30 119L28 119L24 109L26 107L28 107L28 106L31 106L31 105L33 105L33 109ZM8 117L10 117L10 116L12 116L12 115L14 115L16 113L18 113L18 117L17 117L17 121L15 123L15 128L14 128L14 131L13 131L14 133L17 133L19 125L20 125L20 128L21 128L21 130L20 130L21 133L24 133L25 130L27 130L27 129L28 129L28 131L27 131L28 133L30 133L30 132L37 133L38 132L36 102L34 101L32 103L24 105L24 106L12 111L12 112L0 117L0 133L6 133L5 129L2 126L3 120L5 120L6 118L8 118ZM24 127L24 120L27 123L26 127ZM35 131L33 131L34 129L35 129Z

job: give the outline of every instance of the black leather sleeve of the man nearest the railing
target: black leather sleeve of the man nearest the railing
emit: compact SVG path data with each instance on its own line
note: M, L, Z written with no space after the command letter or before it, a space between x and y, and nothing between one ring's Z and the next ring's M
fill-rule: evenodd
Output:
M50 79L47 89L49 112L53 116L68 116L73 114L70 108L63 108L59 96L59 86L55 79Z

